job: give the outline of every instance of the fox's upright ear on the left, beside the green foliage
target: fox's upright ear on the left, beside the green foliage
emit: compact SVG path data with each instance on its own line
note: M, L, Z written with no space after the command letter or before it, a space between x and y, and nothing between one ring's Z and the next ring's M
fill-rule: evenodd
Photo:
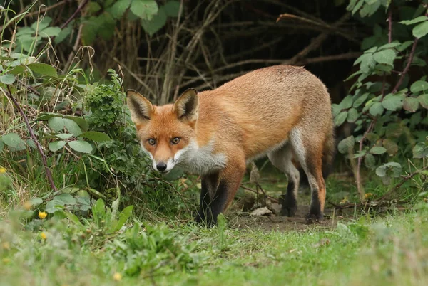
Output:
M141 124L150 120L153 114L153 105L146 97L135 90L126 90L126 103L134 123Z

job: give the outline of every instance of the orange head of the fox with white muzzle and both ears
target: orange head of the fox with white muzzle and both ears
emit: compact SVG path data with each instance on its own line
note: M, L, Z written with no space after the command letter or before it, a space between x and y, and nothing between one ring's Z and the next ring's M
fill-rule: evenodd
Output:
M186 90L173 105L152 105L135 90L127 90L126 97L137 137L153 160L153 169L168 173L197 148L199 102L195 90Z

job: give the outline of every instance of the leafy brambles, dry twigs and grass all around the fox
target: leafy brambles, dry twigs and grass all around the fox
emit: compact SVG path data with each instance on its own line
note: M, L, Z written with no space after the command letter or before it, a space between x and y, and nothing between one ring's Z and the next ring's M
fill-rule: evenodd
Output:
M427 4L4 1L2 285L426 284ZM150 169L123 91L164 104L275 64L305 65L330 90L330 219L249 223L286 189L262 159L219 226L187 224L200 179Z

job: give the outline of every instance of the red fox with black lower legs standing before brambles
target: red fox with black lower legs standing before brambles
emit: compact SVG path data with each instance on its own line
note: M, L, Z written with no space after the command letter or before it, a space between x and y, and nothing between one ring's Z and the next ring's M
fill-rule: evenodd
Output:
M186 90L163 106L152 105L135 90L126 93L153 169L168 173L180 166L202 175L195 221L215 224L233 201L246 164L265 155L288 177L282 215L293 216L297 210L302 168L312 191L307 219L322 219L322 168L332 159L334 125L327 88L305 68L261 68L215 90Z

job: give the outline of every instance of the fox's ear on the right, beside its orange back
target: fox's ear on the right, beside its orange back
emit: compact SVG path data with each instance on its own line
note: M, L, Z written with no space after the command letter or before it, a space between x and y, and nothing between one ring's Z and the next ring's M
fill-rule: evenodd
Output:
M179 120L193 122L198 119L199 100L196 90L189 88L178 97L173 106L173 112Z

